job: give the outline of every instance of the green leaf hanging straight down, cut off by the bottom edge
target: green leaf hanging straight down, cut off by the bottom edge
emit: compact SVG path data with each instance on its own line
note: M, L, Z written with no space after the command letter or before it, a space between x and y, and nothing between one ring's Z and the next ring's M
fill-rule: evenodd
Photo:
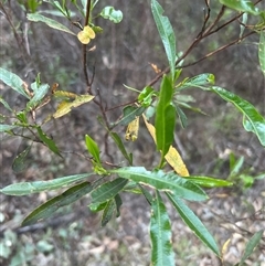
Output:
M152 245L151 265L173 266L174 254L171 243L170 221L167 209L158 191L151 206L150 237Z

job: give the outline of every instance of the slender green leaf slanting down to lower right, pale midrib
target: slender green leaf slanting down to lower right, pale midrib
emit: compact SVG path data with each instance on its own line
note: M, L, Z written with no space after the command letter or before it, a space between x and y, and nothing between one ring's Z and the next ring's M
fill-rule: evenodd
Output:
M178 196L170 193L167 193L167 195L180 214L183 222L209 248L211 248L218 256L220 256L220 251L213 236L210 234L200 219Z

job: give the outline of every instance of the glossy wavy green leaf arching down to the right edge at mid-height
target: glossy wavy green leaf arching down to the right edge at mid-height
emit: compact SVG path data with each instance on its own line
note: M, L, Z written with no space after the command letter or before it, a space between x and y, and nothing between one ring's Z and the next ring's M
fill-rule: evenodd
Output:
M224 88L213 86L210 89L226 102L232 103L241 113L243 113L243 126L245 130L254 132L261 143L265 146L265 118L255 109L255 107L247 100L242 99Z

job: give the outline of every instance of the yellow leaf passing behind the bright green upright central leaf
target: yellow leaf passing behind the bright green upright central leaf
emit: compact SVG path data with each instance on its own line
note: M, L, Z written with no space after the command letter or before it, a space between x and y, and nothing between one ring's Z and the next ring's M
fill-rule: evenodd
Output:
M153 141L156 142L156 128L147 121L146 117L144 117L146 127L149 131L149 134L151 135ZM173 168L173 170L181 177L189 177L190 173L181 158L181 156L179 155L178 150L176 148L173 148L172 146L170 146L168 153L165 156L165 159L167 160L167 162Z

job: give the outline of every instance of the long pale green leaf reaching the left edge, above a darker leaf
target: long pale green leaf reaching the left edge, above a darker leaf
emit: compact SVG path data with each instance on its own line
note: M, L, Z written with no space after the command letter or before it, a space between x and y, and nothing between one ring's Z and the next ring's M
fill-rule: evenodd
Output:
M40 193L42 191L61 189L82 179L88 178L93 173L80 173L47 181L14 183L1 189L0 192L7 195L28 195L32 193Z

